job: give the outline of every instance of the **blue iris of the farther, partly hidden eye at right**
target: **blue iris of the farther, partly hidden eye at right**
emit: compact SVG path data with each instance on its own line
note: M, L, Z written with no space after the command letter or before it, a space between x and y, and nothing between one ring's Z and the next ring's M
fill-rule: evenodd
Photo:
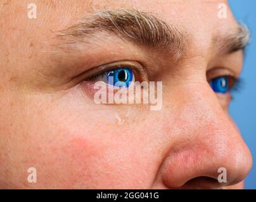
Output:
M226 93L229 90L229 80L227 76L220 76L210 81L210 86L216 93Z

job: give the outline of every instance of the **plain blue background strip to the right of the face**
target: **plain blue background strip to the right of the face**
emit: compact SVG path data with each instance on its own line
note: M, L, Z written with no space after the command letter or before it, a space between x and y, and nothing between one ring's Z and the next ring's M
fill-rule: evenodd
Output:
M252 33L241 74L245 82L240 92L233 93L229 112L252 152L254 165L246 177L245 189L256 189L256 1L229 0L229 4L236 19L245 23Z

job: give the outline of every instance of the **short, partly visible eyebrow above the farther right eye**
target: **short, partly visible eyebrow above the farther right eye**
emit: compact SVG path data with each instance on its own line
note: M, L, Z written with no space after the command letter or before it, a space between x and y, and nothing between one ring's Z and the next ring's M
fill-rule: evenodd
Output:
M245 51L250 42L250 30L245 24L238 23L238 27L227 33L226 36L215 36L213 44L217 45L217 50L226 53Z

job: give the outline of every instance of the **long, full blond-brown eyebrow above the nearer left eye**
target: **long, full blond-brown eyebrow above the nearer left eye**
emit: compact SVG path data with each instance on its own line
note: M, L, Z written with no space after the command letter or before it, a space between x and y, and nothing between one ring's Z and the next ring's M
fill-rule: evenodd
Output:
M72 44L77 39L82 41L86 37L92 37L94 33L105 31L139 45L171 50L174 55L182 52L182 33L150 13L135 9L95 11L72 27L61 30L56 37Z

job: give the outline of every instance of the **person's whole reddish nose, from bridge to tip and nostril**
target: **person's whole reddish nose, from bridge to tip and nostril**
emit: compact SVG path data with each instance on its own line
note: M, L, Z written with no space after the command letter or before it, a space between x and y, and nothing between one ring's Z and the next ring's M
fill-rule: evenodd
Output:
M176 123L165 123L169 147L157 179L170 189L238 184L252 167L250 151L210 87L201 86L199 93L195 89L179 91L183 101L177 107Z

